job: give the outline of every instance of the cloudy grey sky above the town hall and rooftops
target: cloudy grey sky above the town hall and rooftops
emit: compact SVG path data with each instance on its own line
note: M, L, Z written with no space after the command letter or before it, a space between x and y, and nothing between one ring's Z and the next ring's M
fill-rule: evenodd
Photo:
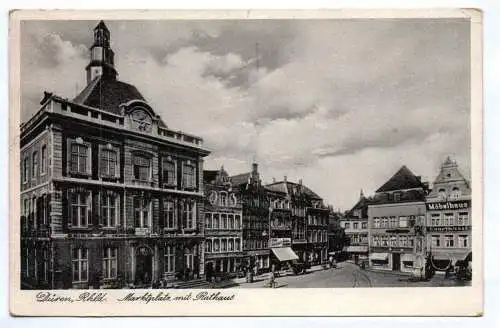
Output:
M22 120L43 91L72 98L98 21L23 22ZM206 168L259 163L335 208L403 164L470 177L466 20L108 21L119 79L170 128L205 139Z

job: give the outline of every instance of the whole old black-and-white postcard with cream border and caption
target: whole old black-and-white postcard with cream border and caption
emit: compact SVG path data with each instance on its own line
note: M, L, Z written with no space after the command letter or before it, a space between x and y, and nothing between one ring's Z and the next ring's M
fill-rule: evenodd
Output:
M11 313L481 315L481 26L12 11Z

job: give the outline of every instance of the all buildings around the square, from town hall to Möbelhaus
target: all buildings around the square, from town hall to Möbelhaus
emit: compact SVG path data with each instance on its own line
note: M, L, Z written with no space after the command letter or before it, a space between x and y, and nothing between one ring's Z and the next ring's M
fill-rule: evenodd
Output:
M202 138L167 127L114 56L101 21L85 88L45 92L21 124L22 288L209 288L338 254L416 274L472 260L470 185L451 159L432 190L402 165L338 213L301 180L263 183L257 163L204 170Z

